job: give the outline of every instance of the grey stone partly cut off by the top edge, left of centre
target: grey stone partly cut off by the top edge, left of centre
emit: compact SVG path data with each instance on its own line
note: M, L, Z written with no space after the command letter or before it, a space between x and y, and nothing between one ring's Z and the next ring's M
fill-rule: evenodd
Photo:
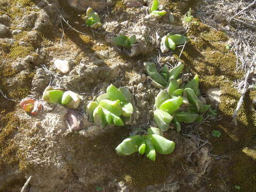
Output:
M68 0L68 3L71 7L83 11L86 11L89 6L92 9L104 9L107 6L106 0Z

